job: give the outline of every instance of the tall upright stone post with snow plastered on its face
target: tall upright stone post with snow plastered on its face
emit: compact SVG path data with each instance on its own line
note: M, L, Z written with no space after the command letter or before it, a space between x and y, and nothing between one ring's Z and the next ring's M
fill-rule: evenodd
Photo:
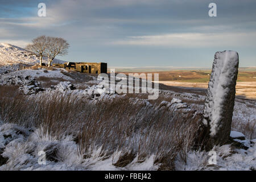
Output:
M229 140L238 62L238 53L235 51L216 52L214 55L203 113L207 148L225 144Z

